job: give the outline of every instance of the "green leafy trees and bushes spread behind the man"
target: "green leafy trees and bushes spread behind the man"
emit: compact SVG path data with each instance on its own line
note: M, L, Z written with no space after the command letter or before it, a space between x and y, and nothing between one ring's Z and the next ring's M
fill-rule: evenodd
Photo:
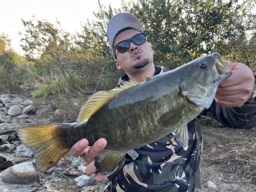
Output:
M98 4L96 19L88 20L75 35L63 31L58 20L57 27L34 17L22 20L22 48L33 63L30 68L38 79L50 77L47 87L38 83L35 95L113 89L123 72L115 66L106 27L120 12L130 12L139 18L154 49L155 65L174 69L212 52L249 67L255 65L256 14L251 10L256 0L121 0L118 9L105 7L100 0ZM1 40L5 44L0 47L0 65L1 59L5 59L2 63L7 69L18 59L6 51L10 46L8 36L0 34Z

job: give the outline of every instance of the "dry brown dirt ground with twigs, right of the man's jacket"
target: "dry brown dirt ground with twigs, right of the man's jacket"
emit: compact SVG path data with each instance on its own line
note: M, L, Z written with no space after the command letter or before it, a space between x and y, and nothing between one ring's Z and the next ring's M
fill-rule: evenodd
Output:
M236 130L209 120L202 130L203 188L197 191L256 191L255 127ZM217 189L208 187L209 181L214 182Z

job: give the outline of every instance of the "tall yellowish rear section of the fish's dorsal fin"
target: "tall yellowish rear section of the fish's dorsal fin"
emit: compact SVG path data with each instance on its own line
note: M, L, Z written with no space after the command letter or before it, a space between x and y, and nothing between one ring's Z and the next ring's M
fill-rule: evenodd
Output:
M115 91L99 91L93 94L80 109L76 119L77 124L81 124L90 119L93 114L99 111L105 104L109 103L116 94L117 92Z

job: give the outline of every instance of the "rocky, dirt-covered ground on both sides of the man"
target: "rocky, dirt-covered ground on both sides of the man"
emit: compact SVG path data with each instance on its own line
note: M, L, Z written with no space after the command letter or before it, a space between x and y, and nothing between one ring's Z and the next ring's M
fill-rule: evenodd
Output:
M53 103L57 102L56 100L59 97L52 97L47 101L49 103L42 100L35 103L35 100L29 94L10 95L11 100L16 97L21 98L22 102L31 99L34 102L34 108L32 108L30 113L24 114L22 118L19 115L10 116L8 115L9 108L6 108L3 101L0 100L0 115L8 117L4 119L5 122L2 120L0 125L8 124L6 126L10 130L24 125L54 122L53 120L57 120L56 117L58 115L56 113L59 113L61 109L57 109L56 106L53 107ZM77 103L75 99L69 99L68 102ZM22 103L20 104L22 105ZM23 113L23 109L20 113ZM41 111L37 112L38 110ZM75 117L73 119L71 117L73 115L69 116L68 114L66 113L65 116L67 121L75 120ZM63 117L63 115L61 116ZM202 118L201 123L203 124L204 135L204 150L201 162L203 189L197 189L196 191L255 191L256 129L248 131L228 129L221 127L219 123L208 118ZM8 138L6 135L8 135ZM15 132L3 134L3 131L0 130L0 136L0 178L1 174L2 178L3 175L9 177L13 174L7 171L10 169L7 168L8 166L15 167L18 164L29 162L26 164L27 169L29 169L30 165L33 169L33 164L31 163L34 160L33 155L23 154L26 150L24 150L24 145L19 141ZM1 164L1 157L5 158L5 161L9 163L3 165L5 163L2 161ZM0 191L93 192L103 191L104 186L108 183L108 180L96 182L94 176L84 174L84 167L80 159L72 157L69 153L48 172L40 174L36 172L36 174L37 181L28 184L6 184L3 182L3 179L0 179ZM10 181L10 179L7 180ZM16 179L14 180L17 181Z

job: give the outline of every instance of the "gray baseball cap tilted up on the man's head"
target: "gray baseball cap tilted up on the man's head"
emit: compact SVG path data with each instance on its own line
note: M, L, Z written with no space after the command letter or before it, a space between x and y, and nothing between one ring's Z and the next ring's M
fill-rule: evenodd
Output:
M108 36L109 36L110 45L112 48L112 54L114 58L115 58L114 40L115 40L116 34L120 30L128 27L133 28L137 31L140 31L141 33L143 32L139 19L131 13L119 13L110 19L110 22L108 24Z

